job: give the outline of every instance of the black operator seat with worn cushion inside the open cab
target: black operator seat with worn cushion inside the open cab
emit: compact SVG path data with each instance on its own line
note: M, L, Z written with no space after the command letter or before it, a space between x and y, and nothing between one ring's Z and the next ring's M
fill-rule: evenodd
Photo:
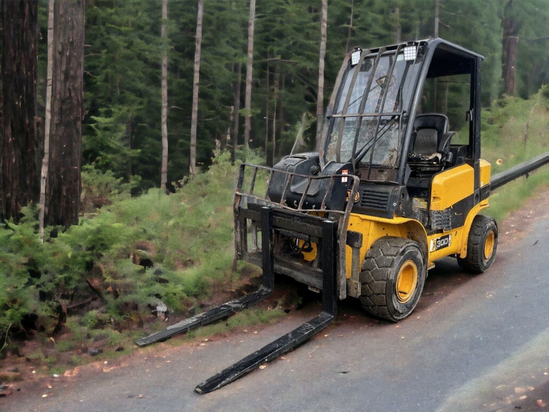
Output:
M442 165L451 162L450 140L456 132L448 131L448 118L444 114L417 115L413 130L408 163Z

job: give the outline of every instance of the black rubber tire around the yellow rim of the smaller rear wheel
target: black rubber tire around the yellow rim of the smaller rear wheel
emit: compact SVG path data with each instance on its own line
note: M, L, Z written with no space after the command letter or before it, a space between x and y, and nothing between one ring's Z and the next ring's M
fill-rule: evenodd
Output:
M484 256L484 244L490 231L494 232L494 249L489 259ZM467 256L457 258L457 263L462 269L473 274L483 273L490 268L496 259L497 250L497 224L488 216L477 215L469 230L467 239Z

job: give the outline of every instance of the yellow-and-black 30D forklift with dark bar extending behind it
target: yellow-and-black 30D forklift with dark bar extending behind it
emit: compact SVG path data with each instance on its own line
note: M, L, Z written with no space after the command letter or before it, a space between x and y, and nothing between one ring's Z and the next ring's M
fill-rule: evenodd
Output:
M549 163L549 154L490 181L490 164L480 159L482 60L440 38L347 54L318 152L292 153L273 168L240 165L236 259L261 266L261 289L138 345L248 307L271 293L275 273L322 293L316 318L195 388L211 392L322 330L338 299L360 299L368 313L396 322L416 307L436 260L451 256L467 271L488 270L497 224L479 212L488 207L490 191ZM450 87L464 99L453 109L447 101L437 105L437 85L446 87L446 99ZM436 112L441 107L447 113ZM449 115L456 126L461 122L458 135L450 131Z

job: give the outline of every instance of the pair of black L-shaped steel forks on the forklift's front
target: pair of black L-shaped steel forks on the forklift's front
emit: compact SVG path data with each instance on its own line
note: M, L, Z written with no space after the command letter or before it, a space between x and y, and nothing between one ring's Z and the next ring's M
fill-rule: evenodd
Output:
M231 300L216 308L193 316L192 318L178 322L167 327L165 330L153 333L153 335L141 338L137 341L138 346L146 346L150 343L163 341L177 333L186 332L195 327L206 325L216 320L225 318L239 310L247 308L250 304L257 302L272 293L274 284L274 259L273 259L273 224L272 207L261 208L261 248L262 248L262 269L263 285L259 291L249 293L243 297ZM256 352L239 360L204 382L200 383L194 390L198 393L208 393L227 385L239 377L247 374L257 366L264 364L279 355L288 352L311 336L320 332L332 322L337 314L337 269L336 259L333 251L337 250L336 228L337 223L332 220L322 220L322 312L292 332L279 337ZM268 235L267 235L268 234Z

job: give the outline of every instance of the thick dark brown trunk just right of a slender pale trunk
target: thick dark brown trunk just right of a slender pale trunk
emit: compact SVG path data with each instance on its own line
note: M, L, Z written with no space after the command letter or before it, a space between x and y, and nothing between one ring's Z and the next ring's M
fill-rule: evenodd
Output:
M46 225L78 223L83 117L84 0L54 7L52 118Z

